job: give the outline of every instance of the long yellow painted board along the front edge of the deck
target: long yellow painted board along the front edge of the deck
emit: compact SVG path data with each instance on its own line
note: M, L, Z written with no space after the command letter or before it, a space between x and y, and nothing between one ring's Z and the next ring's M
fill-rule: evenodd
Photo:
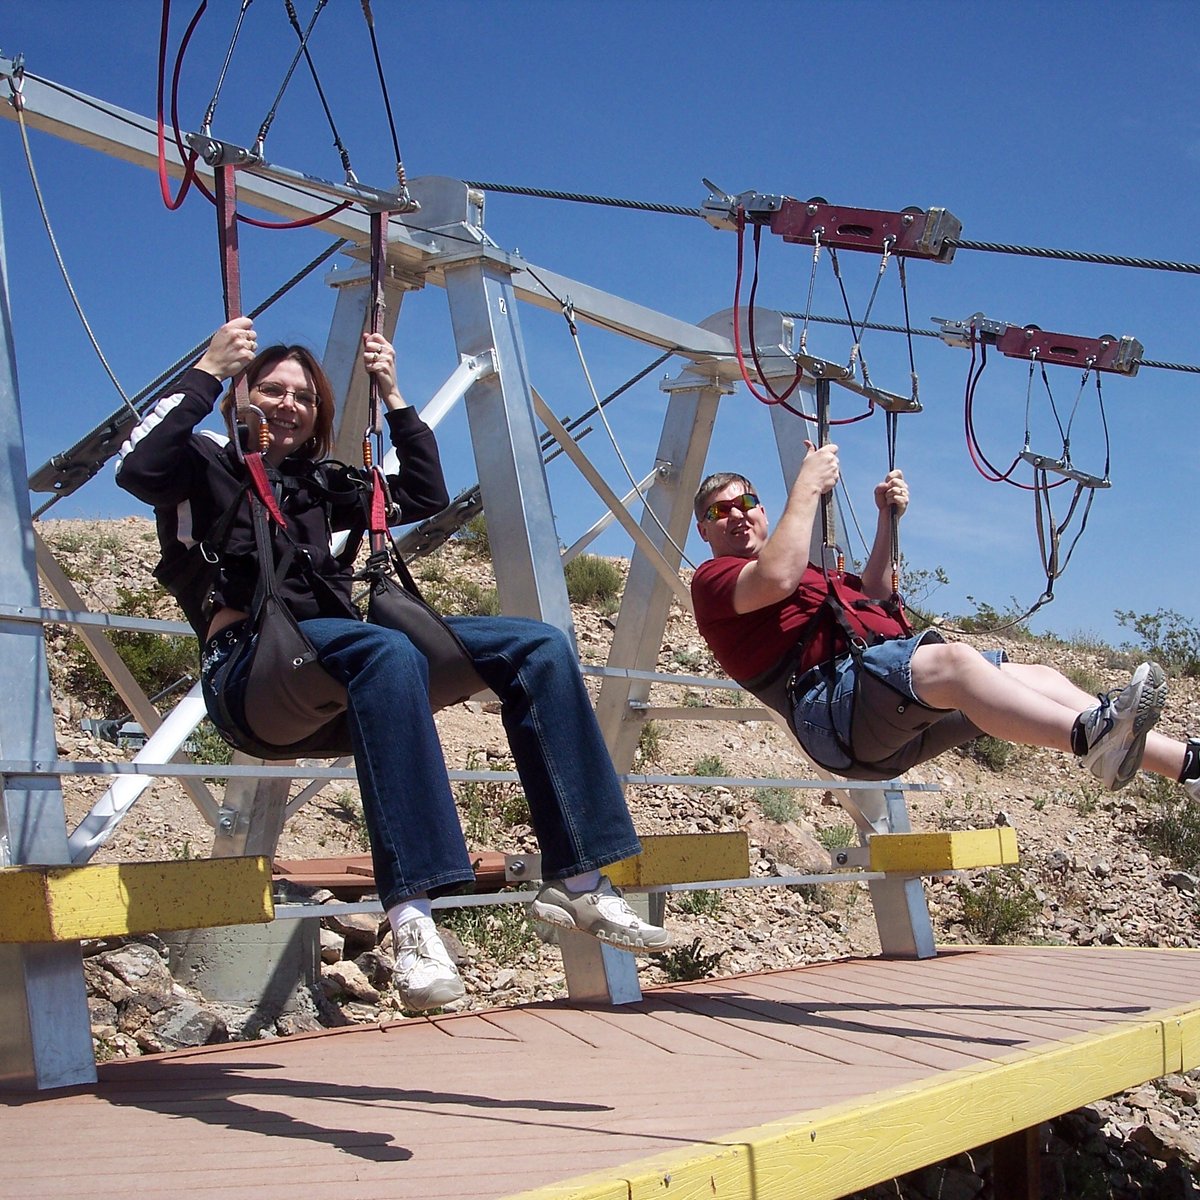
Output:
M1189 1069L1198 1032L1171 1009L506 1200L835 1200Z

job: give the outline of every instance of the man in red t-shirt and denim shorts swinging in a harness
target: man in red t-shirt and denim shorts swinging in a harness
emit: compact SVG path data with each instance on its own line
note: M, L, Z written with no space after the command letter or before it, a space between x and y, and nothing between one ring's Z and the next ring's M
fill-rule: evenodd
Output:
M862 577L811 564L821 497L838 475L838 448L809 443L774 532L743 475L709 475L695 502L713 551L691 584L700 632L733 679L785 714L815 762L889 779L990 733L1074 752L1114 791L1145 766L1200 799L1200 739L1151 732L1166 698L1162 667L1142 664L1097 703L1052 667L931 629L911 635L890 586L889 511L908 508L899 470L875 488L878 522Z

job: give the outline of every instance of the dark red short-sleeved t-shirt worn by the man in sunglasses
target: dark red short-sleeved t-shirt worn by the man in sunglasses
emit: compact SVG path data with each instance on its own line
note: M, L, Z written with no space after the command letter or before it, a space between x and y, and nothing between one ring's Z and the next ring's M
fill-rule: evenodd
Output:
M733 556L710 558L696 568L691 580L696 626L731 679L754 679L787 658L804 637L829 590L821 568L810 563L786 600L752 612L736 612L733 589L742 569L750 562L749 558ZM868 599L862 590L862 581L854 575L841 576L838 588L847 608L856 600ZM878 613L876 605L871 607L875 614L868 628L875 636L907 636L905 624ZM822 622L797 668L806 671L841 654L845 648L846 640L840 628L833 620Z

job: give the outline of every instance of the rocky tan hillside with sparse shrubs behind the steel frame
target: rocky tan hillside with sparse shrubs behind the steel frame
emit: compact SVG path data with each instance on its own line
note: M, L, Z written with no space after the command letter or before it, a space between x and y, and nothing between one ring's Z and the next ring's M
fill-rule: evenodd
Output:
M46 522L42 533L90 607L178 619L172 601L161 596L150 580L149 568L155 556L149 522L134 518ZM467 544L450 545L414 565L431 598L446 611L479 611L491 602L486 559ZM56 601L47 598L47 602ZM587 662L602 664L606 659L613 619L611 613L606 614L606 607L611 608L602 602L599 607L576 606L580 649ZM1046 638L988 640L988 644L996 643L1003 644L1015 661L1056 666L1088 691L1121 686L1138 661L1127 652L1099 644L1067 644ZM127 757L128 750L82 725L89 719L124 714L110 701L106 707L100 698L77 644L65 629L48 631L61 752L89 760ZM134 653L154 658L162 652L148 650L143 644ZM190 650L179 653L186 659ZM174 660L155 665L168 674L178 667ZM691 619L679 610L672 613L659 667L686 674L718 673ZM187 667L185 662L184 668L194 666ZM1200 730L1198 680L1172 679L1171 689L1162 727L1180 737ZM652 695L655 704L701 702L698 691L674 686L655 686ZM460 706L444 712L438 715L438 726L449 766L508 766L499 718L487 706ZM214 752L214 746L204 742L198 752ZM769 782L772 778L802 773L790 739L769 720L652 724L643 731L640 767L664 774L766 780L757 788L660 786L635 787L629 794L635 823L644 833L746 830L756 874L822 870L828 865L828 848L852 840L851 822L828 792L788 790ZM1200 944L1196 923L1200 815L1180 804L1178 788L1142 776L1112 796L1102 792L1091 776L1062 755L1009 748L990 739L967 751L946 755L913 772L912 778L935 781L941 787L938 792L912 797L916 828L954 829L1001 822L1015 828L1021 848L1021 866L1016 871L980 872L978 877L929 883L930 910L940 942ZM103 784L67 779L64 790L73 823L89 809ZM533 846L521 797L512 785L461 785L458 799L474 848L509 851ZM194 806L178 786L163 780L143 796L97 860L204 856L210 845L211 830ZM337 784L310 800L288 823L280 856L313 858L364 850L356 788ZM689 893L671 899L667 920L685 950L671 960L647 960L641 967L644 985L682 978L688 972L725 974L786 967L877 949L865 884L858 883ZM518 1003L562 994L557 950L542 944L518 912L467 910L450 917L445 928L467 980L467 1007ZM401 1014L395 1012L386 989L388 947L377 944L376 932L370 920L340 932L330 931L324 938L326 978L314 998L311 1018L306 1021L293 1015L290 1024L266 1032L287 1032L318 1020L329 1024L398 1018ZM355 938L360 941L355 943ZM97 997L96 1036L102 1052L138 1054L180 1044L178 1030L186 1021L181 1022L176 1014L168 1030L166 1019L157 1026L152 1020L154 1013L167 1008L168 998L178 994L178 985L143 961L142 950L101 946L94 950L89 972ZM131 954L140 956L140 965L130 966L126 960ZM150 1006L144 1014L148 1019L140 1025L121 1008L122 998L136 990L126 977L130 972L138 978L146 978L148 973L162 976L157 984L158 1009ZM202 1009L203 1004L197 1012ZM211 1006L206 1012L209 1018L193 1026L193 1038L262 1036L259 1030L241 1028L239 1022L246 1014L212 1013ZM1050 1134L1056 1139L1056 1160L1081 1160L1084 1151L1079 1147L1085 1147L1096 1159L1097 1177L1108 1180L1109 1190L1068 1189L1055 1194L1192 1194L1139 1190L1142 1187L1139 1171L1142 1165L1151 1171L1154 1188L1190 1187L1190 1164L1200 1160L1200 1114L1195 1105L1193 1082L1175 1079L1075 1114L1070 1121L1063 1118ZM1078 1151L1074 1156L1068 1153L1072 1146ZM1154 1163L1168 1160L1178 1160L1183 1166L1171 1168L1169 1175L1153 1168ZM940 1170L940 1176L929 1176L924 1184L906 1181L904 1188L910 1190L898 1190L900 1184L896 1184L886 1194L970 1196L979 1194L978 1188L971 1190L972 1181L983 1187L985 1171L979 1163L943 1164ZM958 1188L953 1193L946 1190L952 1178Z

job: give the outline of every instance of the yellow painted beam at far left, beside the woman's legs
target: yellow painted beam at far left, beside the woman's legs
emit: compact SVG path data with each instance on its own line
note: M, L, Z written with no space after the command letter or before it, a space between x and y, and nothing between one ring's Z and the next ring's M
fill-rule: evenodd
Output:
M266 858L0 869L0 942L74 942L271 920Z

